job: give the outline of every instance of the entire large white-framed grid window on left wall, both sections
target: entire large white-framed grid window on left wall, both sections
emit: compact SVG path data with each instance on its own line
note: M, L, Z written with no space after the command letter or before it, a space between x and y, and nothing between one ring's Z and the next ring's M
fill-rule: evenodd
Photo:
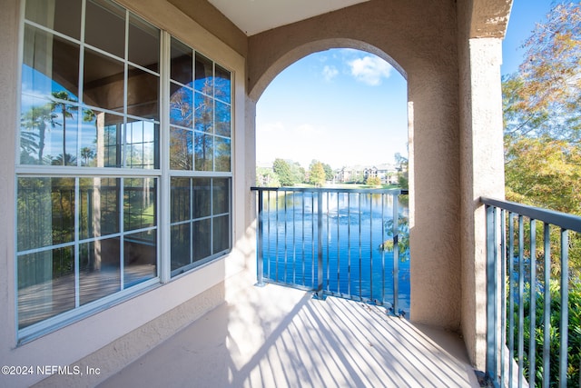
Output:
M229 252L231 73L109 0L27 0L23 39L21 335Z

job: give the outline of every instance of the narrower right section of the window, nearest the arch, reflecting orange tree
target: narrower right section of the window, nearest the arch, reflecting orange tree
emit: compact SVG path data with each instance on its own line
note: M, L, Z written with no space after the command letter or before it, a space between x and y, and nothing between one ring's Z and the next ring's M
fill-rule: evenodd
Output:
M230 249L230 73L172 38L172 275Z

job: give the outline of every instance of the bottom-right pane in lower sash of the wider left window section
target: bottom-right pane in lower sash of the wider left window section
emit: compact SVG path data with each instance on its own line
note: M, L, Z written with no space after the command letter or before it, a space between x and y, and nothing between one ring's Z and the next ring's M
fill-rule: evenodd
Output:
M123 288L157 276L157 239L154 230L125 235Z

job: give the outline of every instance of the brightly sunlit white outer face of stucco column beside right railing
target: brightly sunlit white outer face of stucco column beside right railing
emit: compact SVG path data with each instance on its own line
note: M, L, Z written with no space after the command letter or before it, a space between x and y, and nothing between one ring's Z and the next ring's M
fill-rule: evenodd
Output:
M502 39L468 39L459 58L462 334L470 360L483 370L487 242L485 209L479 198L504 198Z

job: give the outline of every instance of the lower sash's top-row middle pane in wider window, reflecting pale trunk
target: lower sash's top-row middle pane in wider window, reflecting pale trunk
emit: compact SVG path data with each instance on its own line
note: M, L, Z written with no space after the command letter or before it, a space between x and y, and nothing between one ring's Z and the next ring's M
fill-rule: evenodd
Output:
M79 179L79 237L119 233L120 178Z

